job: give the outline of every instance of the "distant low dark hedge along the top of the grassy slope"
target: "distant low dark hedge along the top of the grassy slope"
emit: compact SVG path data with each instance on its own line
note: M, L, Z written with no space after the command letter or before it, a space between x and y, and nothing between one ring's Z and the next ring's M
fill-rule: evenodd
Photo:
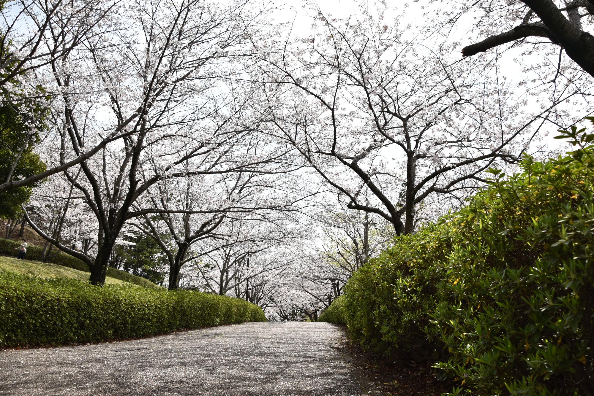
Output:
M17 256L18 251L15 248L19 247L21 242L19 241L12 241L11 239L0 239L0 253L7 254L9 256ZM42 253L43 248L35 245L27 246L27 260L42 260ZM89 272L89 266L85 264L82 260L78 260L78 258L72 257L66 253L58 253L52 254L49 260L50 263L58 264L59 266L64 266L68 268L74 268L75 270ZM159 288L159 286L155 285L148 279L144 279L140 276L132 275L129 272L121 271L115 269L113 267L108 267L107 276L124 280L125 282L134 283L134 285L144 286L145 288Z

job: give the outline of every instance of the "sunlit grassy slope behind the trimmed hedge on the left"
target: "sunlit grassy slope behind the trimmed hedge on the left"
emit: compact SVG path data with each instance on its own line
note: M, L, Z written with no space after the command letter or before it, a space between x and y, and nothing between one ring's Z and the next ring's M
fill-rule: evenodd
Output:
M89 282L89 273L73 268L59 266L58 264L42 263L33 260L18 260L14 257L0 256L0 270L16 272L19 274L28 274L39 277L69 277L83 282ZM105 278L106 285L132 285L132 283L112 277ZM136 286L136 285L132 285Z

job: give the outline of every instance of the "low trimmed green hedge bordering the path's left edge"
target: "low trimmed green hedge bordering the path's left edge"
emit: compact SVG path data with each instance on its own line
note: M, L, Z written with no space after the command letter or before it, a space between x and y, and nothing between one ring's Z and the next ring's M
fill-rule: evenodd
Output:
M100 342L266 321L241 299L189 290L91 286L0 272L0 346Z

